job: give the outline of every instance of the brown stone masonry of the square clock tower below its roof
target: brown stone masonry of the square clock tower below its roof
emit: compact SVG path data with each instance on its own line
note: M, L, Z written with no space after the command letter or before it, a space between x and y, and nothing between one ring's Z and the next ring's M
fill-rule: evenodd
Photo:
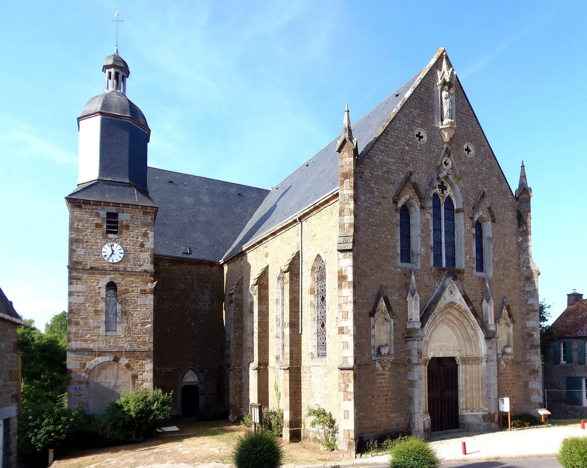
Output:
M68 404L89 408L88 376L99 363L118 362L133 386L153 386L153 207L68 200ZM119 213L119 234L106 234L106 212ZM124 258L110 264L102 247L116 242ZM116 332L105 331L106 284L117 284Z

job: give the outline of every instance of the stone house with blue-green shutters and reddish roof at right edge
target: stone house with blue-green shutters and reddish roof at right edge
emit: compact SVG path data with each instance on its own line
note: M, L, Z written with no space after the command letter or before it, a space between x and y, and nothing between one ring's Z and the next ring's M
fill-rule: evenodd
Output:
M544 363L546 407L554 418L587 416L587 299L573 289L554 321L555 341Z

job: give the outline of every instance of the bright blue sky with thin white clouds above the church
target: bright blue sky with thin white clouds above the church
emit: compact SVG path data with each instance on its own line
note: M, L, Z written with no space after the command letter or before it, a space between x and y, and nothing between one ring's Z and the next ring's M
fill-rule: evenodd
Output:
M0 2L0 287L43 325L66 308L77 123L114 49L151 127L149 164L268 188L440 46L515 188L526 163L540 295L587 293L587 4Z

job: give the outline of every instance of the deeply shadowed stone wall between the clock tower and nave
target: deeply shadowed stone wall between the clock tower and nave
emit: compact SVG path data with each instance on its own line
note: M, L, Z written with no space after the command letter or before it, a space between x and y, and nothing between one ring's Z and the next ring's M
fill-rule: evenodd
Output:
M224 372L223 271L220 264L155 258L153 385L173 392L188 368L203 376L206 402L222 402Z

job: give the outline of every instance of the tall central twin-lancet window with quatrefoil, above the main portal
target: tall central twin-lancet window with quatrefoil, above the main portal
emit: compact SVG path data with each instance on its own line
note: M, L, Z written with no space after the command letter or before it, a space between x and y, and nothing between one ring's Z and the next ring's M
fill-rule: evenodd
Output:
M432 196L433 263L456 266L454 201L450 187L441 180Z

